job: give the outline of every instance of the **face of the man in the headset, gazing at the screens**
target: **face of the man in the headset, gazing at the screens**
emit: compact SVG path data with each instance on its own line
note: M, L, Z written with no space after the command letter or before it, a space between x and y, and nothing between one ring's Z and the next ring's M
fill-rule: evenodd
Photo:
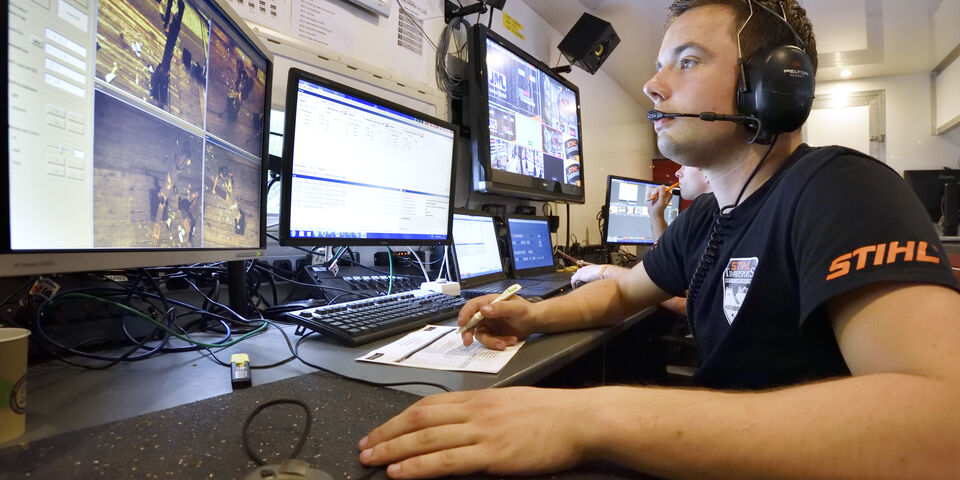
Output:
M737 44L729 7L688 10L667 29L657 56L657 73L643 87L654 108L664 112L736 113ZM654 123L657 146L682 165L706 167L727 145L744 145L745 133L730 122L664 118Z

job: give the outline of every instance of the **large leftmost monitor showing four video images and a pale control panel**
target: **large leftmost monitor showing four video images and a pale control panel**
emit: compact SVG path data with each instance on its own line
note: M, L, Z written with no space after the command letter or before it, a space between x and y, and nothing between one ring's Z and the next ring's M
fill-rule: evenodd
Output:
M226 3L7 7L0 276L262 253L273 59Z

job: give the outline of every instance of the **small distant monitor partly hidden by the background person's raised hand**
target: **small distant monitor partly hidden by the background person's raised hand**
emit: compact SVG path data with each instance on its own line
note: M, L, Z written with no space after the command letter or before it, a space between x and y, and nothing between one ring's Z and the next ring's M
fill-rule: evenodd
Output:
M656 239L647 199L662 185L636 178L607 176L607 212L603 242L607 245L650 245ZM680 214L680 195L674 195L663 212L667 224Z

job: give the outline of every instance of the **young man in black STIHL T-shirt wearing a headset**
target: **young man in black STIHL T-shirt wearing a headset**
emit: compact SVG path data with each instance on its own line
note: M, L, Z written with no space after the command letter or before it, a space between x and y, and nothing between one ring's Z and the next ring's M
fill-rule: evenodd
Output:
M782 22L750 6L757 23L738 35L744 2L675 2L645 86L655 108L736 113L737 39L744 57L776 32L773 45L792 43ZM803 9L782 8L816 58ZM704 169L715 201L695 201L628 274L535 304L481 297L459 322L481 310L475 338L503 348L532 332L613 324L693 283L697 379L736 390L435 395L360 440L360 461L396 478L588 460L664 477L956 478L960 287L897 175L850 150L801 145L799 131L782 134L761 164L767 147L748 144L738 124L674 118L655 130L668 158ZM736 207L720 215L718 205Z

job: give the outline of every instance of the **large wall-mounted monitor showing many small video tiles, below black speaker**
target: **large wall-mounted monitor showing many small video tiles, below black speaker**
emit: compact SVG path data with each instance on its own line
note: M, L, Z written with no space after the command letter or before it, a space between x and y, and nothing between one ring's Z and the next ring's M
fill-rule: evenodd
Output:
M483 25L470 64L474 190L583 203L577 87Z

